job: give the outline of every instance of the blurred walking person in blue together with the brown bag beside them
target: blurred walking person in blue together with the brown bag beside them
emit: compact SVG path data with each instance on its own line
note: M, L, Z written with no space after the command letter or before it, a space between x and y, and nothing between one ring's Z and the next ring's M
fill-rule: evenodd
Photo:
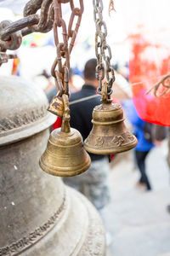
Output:
M123 102L123 107L127 110L127 119L133 125L133 133L138 139L138 144L134 148L135 163L140 172L137 185L150 190L151 185L146 174L145 160L150 150L155 146L160 146L161 141L167 137L167 127L140 119L132 100Z

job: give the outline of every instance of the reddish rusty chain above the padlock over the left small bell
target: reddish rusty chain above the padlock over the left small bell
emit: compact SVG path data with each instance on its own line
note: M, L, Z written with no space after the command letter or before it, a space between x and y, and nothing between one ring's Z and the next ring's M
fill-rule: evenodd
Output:
M62 3L70 3L71 17L68 23L68 32L65 20L62 17ZM82 20L83 1L79 0L80 7L74 5L73 0L54 0L54 42L56 45L56 58L51 68L51 74L54 76L55 84L59 90L58 95L69 95L68 81L70 69L70 55L75 43L77 32ZM77 22L73 28L74 21ZM62 42L59 42L59 28L62 30ZM58 70L57 70L58 67Z

